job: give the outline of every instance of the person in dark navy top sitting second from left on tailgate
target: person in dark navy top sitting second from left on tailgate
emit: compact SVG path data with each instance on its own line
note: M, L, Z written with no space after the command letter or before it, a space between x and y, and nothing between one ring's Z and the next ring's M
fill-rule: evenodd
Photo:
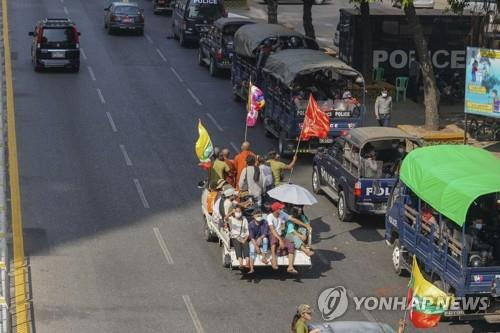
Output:
M257 254L260 254L260 260L263 264L268 262L269 251L269 226L265 221L265 217L260 210L253 213L253 219L248 225L249 231L249 249L250 249L250 271L254 272L254 262L257 259Z

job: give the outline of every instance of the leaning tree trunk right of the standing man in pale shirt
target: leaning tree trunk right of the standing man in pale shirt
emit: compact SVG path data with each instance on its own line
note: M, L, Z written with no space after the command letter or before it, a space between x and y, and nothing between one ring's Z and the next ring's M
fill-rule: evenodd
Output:
M422 71L422 80L424 82L424 107L425 107L425 124L424 127L431 131L439 129L439 90L434 77L434 68L429 54L429 47L424 36L424 30L417 16L413 0L402 0L402 7L406 18L413 31L413 40L420 62L420 70Z

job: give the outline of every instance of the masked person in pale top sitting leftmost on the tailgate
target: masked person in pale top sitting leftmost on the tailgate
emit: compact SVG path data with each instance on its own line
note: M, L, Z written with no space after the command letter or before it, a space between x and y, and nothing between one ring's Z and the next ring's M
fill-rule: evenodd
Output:
M248 221L246 217L243 216L240 207L234 208L231 213L224 218L226 222L225 227L229 228L229 237L234 247L234 252L236 258L240 263L239 268L243 270L244 263L250 264L249 258L249 248L248 248Z

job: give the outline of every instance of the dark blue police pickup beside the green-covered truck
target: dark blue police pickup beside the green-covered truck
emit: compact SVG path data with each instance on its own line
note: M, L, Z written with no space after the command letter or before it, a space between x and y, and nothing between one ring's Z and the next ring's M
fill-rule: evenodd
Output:
M337 201L341 221L354 213L384 215L400 163L419 145L418 138L397 128L354 128L315 155L313 191Z

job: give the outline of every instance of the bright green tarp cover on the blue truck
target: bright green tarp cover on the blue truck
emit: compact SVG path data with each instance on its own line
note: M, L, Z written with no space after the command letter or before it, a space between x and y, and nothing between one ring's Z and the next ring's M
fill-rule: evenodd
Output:
M418 148L403 160L400 179L420 199L463 226L474 200L500 192L500 159L471 146Z

